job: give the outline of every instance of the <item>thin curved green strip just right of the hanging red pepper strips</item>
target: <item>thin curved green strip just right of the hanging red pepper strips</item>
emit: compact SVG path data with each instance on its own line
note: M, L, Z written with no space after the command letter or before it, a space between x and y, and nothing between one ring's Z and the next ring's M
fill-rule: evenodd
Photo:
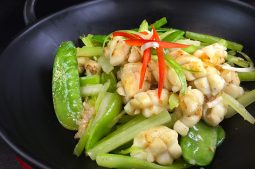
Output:
M183 68L169 55L165 55L165 61L166 61L166 64L170 68L172 68L178 75L178 78L182 85L181 93L185 93L187 90L187 81L186 81Z

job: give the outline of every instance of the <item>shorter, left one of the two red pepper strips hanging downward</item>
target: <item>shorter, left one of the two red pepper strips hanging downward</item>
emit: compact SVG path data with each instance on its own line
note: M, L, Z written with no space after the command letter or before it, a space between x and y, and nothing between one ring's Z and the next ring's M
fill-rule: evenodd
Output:
M146 68L148 63L150 62L151 59L151 49L148 48L143 52L143 65L142 65L142 69L140 72L140 82L139 82L139 89L141 89L143 87L143 81L145 78L145 74L146 74Z

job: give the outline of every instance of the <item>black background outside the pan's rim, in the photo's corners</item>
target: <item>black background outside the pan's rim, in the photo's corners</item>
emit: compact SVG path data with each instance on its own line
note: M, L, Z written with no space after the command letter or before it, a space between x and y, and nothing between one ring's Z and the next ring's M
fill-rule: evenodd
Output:
M41 19L56 11L86 0L38 0L35 6L36 16ZM254 0L243 0L254 4ZM25 0L0 1L0 53L26 28L23 20ZM1 118L1 117L0 117ZM0 139L0 169L19 169L15 153Z

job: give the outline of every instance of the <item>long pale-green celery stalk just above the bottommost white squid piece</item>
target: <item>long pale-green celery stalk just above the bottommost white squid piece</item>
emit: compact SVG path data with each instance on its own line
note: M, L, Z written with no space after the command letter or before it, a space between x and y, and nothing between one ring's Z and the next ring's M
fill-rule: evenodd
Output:
M135 117L117 130L107 135L95 147L87 151L92 160L99 154L108 153L119 146L131 141L138 133L149 128L165 124L171 120L167 111L146 118L142 115Z

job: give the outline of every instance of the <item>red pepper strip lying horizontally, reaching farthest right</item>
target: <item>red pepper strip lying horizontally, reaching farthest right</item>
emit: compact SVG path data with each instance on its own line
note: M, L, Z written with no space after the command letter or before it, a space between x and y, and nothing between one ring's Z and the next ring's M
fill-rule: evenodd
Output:
M126 44L129 46L142 46L145 43L148 42L157 42L160 47L162 48L186 48L189 45L184 45L180 43L174 43L174 42L162 42L158 40L146 40L146 39L129 39L125 40Z

